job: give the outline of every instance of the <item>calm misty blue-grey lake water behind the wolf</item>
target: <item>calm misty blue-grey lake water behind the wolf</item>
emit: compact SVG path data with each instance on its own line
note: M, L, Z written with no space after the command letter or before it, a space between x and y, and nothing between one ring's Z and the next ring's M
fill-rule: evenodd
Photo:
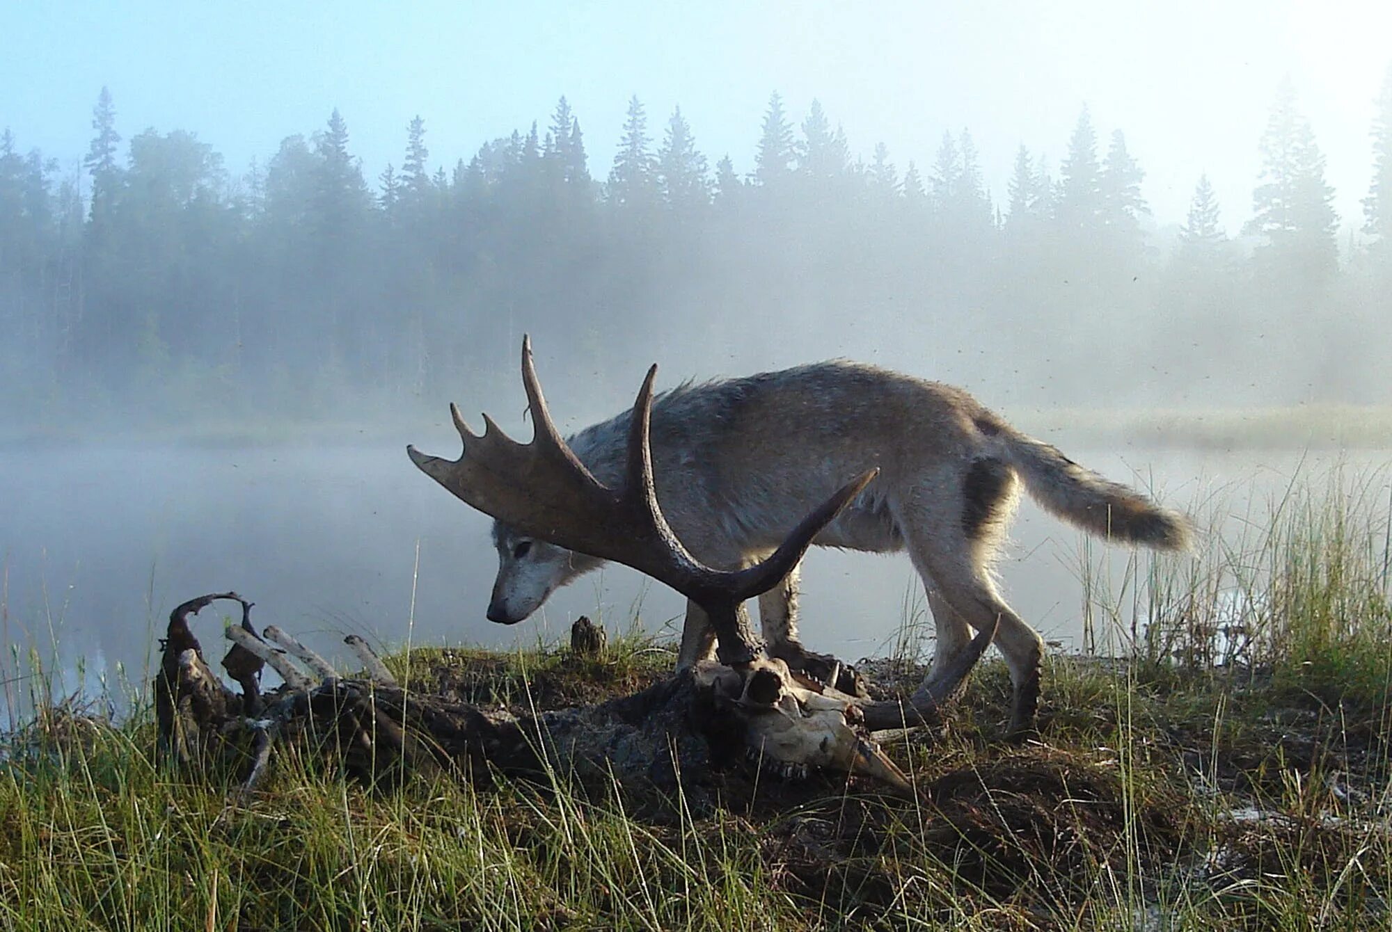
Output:
M1062 445L1108 477L1153 484L1168 504L1189 508L1218 491L1235 512L1297 467L1317 473L1339 458ZM241 593L256 602L258 625L280 625L330 657L344 657L347 633L530 645L562 636L579 613L599 612L611 629L635 613L651 630L679 627L682 600L622 566L580 579L528 622L490 623L487 520L416 472L402 447L0 448L0 636L56 657L71 691L93 689L117 664L143 676L168 611L210 591ZM1379 466L1392 452L1345 459ZM1082 634L1080 541L1026 501L999 568L1011 604L1068 647ZM1114 570L1125 558L1111 561ZM916 600L905 555L817 549L803 579L805 640L851 659L887 650ZM231 611L195 619L205 645L220 643L219 619ZM4 670L14 673L8 654Z

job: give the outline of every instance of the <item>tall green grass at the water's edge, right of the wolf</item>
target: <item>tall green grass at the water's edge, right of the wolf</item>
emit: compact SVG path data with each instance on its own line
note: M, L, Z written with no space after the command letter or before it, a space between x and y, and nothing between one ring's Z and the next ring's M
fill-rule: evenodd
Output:
M1218 492L1205 545L1147 570L1140 659L1240 668L1283 690L1382 702L1392 636L1386 470L1297 473L1264 502ZM1235 511L1229 502L1242 502ZM1115 600L1102 601L1115 612ZM1331 691L1332 690L1332 691Z

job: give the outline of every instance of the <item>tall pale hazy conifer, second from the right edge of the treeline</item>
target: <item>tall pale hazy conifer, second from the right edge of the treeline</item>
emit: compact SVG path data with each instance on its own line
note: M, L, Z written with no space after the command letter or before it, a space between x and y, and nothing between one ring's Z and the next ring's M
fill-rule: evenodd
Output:
M1254 216L1243 232L1265 239L1258 253L1272 271L1304 273L1321 281L1338 268L1334 188L1324 179L1324 154L1310 121L1296 110L1289 79L1276 92L1260 150Z

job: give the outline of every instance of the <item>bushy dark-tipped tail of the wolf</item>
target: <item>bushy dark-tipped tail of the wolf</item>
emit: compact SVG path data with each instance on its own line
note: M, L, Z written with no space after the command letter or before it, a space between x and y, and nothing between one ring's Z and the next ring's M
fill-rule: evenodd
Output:
M1185 515L1102 479L1033 437L1011 431L1002 440L1025 488L1050 513L1111 540L1157 549L1193 545L1193 527Z

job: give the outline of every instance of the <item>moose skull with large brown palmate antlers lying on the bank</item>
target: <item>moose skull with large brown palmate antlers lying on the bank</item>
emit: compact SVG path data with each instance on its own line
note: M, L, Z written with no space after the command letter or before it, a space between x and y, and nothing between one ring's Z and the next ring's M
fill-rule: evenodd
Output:
M891 728L931 718L991 643L994 629L980 632L958 655L958 665L937 677L934 690L915 694L908 708L898 702L867 704L799 680L782 661L767 658L754 640L745 601L782 580L812 540L880 470L871 469L842 485L754 566L732 572L711 569L682 545L657 504L649 444L656 376L654 364L633 402L625 477L618 490L597 481L557 433L528 337L522 338L522 384L536 431L532 442L511 440L487 415L483 433L475 434L459 409L450 405L464 441L459 459L429 456L415 447L406 447L406 453L454 495L523 534L632 566L700 605L715 629L718 657L725 666L704 665L696 676L742 715L754 750L792 768L832 765L906 787L899 768L874 744L862 740L851 722L873 719L880 728Z

